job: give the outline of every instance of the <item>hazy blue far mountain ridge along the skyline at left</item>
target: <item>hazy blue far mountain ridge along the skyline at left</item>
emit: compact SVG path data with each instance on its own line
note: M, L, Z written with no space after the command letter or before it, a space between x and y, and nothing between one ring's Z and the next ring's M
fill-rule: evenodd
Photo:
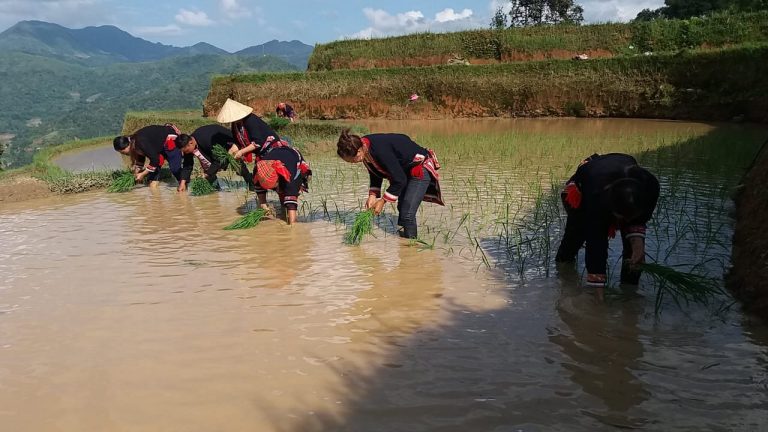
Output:
M84 65L146 62L198 54L232 55L211 44L175 47L132 36L115 26L69 29L43 21L21 21L0 33L0 52L23 52ZM299 41L273 40L235 55L272 55L306 68L312 46Z

